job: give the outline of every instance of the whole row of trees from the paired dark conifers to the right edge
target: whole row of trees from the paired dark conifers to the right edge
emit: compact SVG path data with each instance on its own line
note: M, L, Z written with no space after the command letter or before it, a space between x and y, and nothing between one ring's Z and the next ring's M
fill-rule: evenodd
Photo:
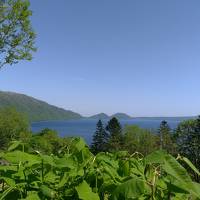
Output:
M135 125L122 128L116 118L112 118L105 126L99 120L91 145L94 154L125 150L130 154L139 152L146 156L159 149L175 157L187 157L200 169L200 117L180 122L176 129L171 129L167 121L162 121L157 131ZM199 175L191 173L194 180L200 182Z

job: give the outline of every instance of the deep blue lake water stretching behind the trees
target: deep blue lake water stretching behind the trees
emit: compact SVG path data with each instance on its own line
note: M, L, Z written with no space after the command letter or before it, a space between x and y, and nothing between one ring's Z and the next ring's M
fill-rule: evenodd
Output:
M157 130L161 119L131 119L120 120L122 126L138 125L141 128ZM181 120L167 119L171 128L176 128ZM64 136L81 136L88 144L91 144L92 135L96 129L97 120L81 119L81 120L67 120L67 121L43 121L32 123L32 131L39 132L44 128L56 130L61 137ZM106 124L106 121L104 121Z

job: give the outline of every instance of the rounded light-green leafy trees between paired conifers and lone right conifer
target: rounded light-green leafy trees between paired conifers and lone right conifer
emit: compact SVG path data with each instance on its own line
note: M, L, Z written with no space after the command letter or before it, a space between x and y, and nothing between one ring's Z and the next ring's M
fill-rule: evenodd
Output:
M159 137L149 130L127 125L124 128L124 149L129 153L140 152L147 155L158 149Z

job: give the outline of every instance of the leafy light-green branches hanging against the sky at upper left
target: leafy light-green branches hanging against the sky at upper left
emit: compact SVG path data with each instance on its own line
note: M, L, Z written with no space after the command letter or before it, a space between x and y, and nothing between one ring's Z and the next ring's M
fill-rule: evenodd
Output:
M0 69L19 60L31 60L35 33L28 0L0 0Z

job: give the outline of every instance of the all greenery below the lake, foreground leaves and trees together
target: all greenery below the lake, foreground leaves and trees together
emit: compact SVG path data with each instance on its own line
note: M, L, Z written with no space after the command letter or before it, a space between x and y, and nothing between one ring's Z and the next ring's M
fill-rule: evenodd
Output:
M2 109L0 200L200 199L199 124L200 118L185 121L172 134L163 121L155 135L122 129L116 118L104 128L99 120L90 150L83 139L50 129L32 134L24 115ZM167 153L167 141L181 156Z

